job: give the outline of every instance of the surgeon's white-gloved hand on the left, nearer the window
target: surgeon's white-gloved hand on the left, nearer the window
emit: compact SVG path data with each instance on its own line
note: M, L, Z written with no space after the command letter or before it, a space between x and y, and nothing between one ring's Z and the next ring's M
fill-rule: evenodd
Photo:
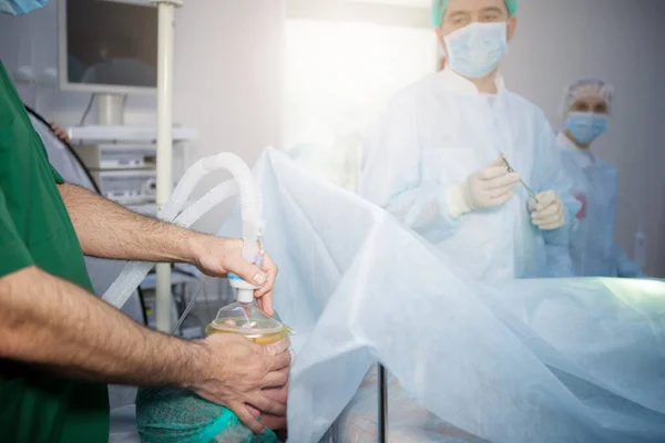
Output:
M446 188L450 215L457 218L471 210L502 205L513 195L519 181L520 175L509 173L498 158L463 183Z

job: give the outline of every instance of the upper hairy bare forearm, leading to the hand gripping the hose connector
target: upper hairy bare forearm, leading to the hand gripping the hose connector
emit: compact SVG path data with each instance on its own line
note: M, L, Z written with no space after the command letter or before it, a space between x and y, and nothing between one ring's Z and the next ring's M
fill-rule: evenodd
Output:
M132 213L75 185L59 189L85 255L193 262L194 243L202 234Z

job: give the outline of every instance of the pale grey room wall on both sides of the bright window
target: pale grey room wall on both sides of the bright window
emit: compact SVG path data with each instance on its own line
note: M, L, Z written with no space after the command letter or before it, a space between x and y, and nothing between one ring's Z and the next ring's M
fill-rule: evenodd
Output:
M285 0L186 1L176 12L175 121L198 130L195 159L219 151L253 163L280 141L280 53ZM55 2L32 14L0 14L0 59L10 72L57 66ZM503 66L507 83L560 123L562 89L579 75L598 74L616 86L610 132L598 154L616 164L620 188L637 206L620 202L618 238L631 245L637 219L648 238L651 275L665 276L665 2L661 0L524 0L518 34ZM20 85L28 104L61 124L76 124L88 94L55 85ZM155 99L131 96L126 122L154 123ZM90 122L93 122L93 112ZM217 178L218 179L218 178ZM214 230L217 212L198 226Z

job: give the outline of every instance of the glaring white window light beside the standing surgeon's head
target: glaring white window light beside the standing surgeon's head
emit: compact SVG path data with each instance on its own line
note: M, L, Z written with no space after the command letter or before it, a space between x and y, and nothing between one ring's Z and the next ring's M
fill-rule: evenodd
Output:
M286 150L355 188L367 126L391 95L434 72L436 49L431 29L287 20Z

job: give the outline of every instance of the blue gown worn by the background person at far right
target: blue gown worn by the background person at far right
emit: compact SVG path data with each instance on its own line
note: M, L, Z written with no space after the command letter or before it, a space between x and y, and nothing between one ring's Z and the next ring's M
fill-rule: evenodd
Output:
M614 165L589 151L579 150L559 134L562 165L571 178L572 192L584 202L572 229L570 257L575 276L640 277L640 266L631 261L614 240L617 203L617 172ZM550 248L551 262L567 257L565 250Z

